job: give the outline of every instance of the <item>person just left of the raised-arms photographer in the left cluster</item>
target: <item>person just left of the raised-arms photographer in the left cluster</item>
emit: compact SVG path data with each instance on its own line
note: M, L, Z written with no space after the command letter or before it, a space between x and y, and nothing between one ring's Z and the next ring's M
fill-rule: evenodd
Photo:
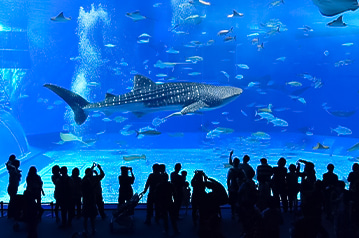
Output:
M101 172L101 170L100 170ZM83 216L84 216L84 232L88 233L87 223L88 219L91 222L92 233L96 233L95 229L95 220L97 216L97 206L96 206L96 186L98 186L99 178L94 178L93 176L93 167L87 168L85 170L85 176L81 182L82 196L83 196Z

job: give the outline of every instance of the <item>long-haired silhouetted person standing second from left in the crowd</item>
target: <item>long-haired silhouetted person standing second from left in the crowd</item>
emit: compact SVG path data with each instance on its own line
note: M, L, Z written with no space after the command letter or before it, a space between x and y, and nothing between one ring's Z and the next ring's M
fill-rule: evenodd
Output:
M43 213L41 207L41 194L45 196L44 190L42 189L43 182L41 177L37 174L35 166L31 166L26 177L26 190L29 195L36 200L37 209L40 211L40 217Z

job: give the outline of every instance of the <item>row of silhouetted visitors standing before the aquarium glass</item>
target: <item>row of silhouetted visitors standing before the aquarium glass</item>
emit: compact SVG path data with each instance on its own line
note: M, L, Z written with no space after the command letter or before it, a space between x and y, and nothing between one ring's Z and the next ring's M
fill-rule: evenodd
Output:
M255 170L249 164L248 155L243 157L242 163L238 157L232 157L233 151L229 155L227 189L202 170L196 170L189 183L187 171L182 170L180 163L175 164L170 175L166 172L165 164L156 163L152 166L144 190L134 194L132 185L135 176L132 168L121 167L118 209L113 212L114 220L116 217L132 216L140 197L148 191L145 224L162 223L164 234L169 233L169 224L175 235L180 233L177 224L182 218L180 210L185 208L187 214L191 205L193 225L199 237L223 237L221 206L229 204L232 219L240 225L240 228L233 228L242 232L239 237L279 238L284 213L292 214L289 216L293 219L290 228L292 238L329 237L323 219L331 225L334 237L359 237L358 163L353 164L348 175L347 190L345 182L340 181L334 173L333 164L328 164L328 171L322 179L318 179L315 165L310 161L298 160L287 169L285 158L280 158L274 167L268 164L266 158L262 158ZM23 195L18 195L22 172L19 167L20 161L11 155L6 163L10 196L8 217L25 221L28 224L28 237L37 237L36 227L43 213L43 182L36 167L30 167L26 190ZM89 234L88 221L91 233L96 233L96 216L106 218L101 188L104 177L101 165L96 163L85 170L83 178L78 168L74 168L69 176L67 167L53 166L51 179L55 186L55 216L56 222L60 223L59 228L71 227L74 217L83 217L83 234Z

